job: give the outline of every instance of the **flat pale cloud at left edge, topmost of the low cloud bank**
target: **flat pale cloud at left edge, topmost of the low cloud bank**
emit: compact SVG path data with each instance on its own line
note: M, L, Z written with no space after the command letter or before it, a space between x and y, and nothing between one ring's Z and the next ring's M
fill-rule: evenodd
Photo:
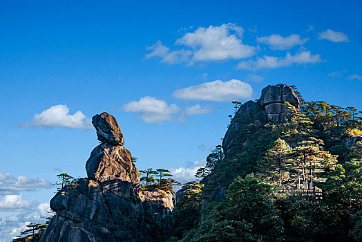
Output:
M21 191L35 191L50 188L52 184L45 178L28 178L0 172L0 194L14 194Z

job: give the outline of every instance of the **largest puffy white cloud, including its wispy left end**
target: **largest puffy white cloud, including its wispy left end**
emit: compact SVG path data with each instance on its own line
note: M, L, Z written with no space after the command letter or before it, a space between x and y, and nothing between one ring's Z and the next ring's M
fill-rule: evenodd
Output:
M194 32L185 33L175 44L182 46L181 50L171 51L159 40L146 49L151 53L146 58L161 57L168 64L191 61L220 62L227 59L242 59L255 54L256 48L242 44L244 30L236 24L200 27ZM191 58L191 59L190 59Z

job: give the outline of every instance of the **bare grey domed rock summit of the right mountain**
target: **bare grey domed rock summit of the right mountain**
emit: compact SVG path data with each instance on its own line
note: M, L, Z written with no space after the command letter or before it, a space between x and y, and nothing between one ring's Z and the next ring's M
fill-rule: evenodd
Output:
M269 85L261 91L258 102L248 101L242 104L225 133L222 148L225 156L236 156L242 144L238 142L240 127L251 122L262 124L282 124L287 121L287 109L284 102L289 102L299 109L298 97L294 91L285 84Z

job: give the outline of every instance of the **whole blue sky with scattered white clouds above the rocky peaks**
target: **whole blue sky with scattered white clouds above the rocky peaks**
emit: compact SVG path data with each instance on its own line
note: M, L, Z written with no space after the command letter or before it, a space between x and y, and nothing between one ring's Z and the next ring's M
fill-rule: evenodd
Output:
M1 1L0 241L44 221L57 174L86 176L96 113L117 118L139 169L184 182L220 144L230 101L268 84L362 110L361 6Z

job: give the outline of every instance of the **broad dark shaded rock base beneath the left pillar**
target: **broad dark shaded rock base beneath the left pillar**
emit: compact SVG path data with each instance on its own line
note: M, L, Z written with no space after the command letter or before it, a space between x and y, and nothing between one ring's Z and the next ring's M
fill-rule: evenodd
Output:
M82 179L50 201L57 212L40 241L139 241L144 210L131 183Z

